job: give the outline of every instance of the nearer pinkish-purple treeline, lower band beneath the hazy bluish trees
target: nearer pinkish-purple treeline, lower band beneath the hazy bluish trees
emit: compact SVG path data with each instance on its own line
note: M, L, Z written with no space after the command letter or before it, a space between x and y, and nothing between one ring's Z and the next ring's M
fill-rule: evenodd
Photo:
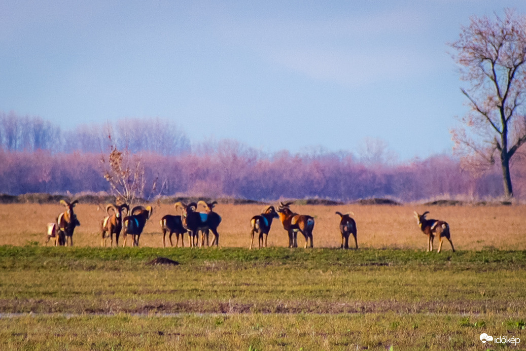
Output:
M398 166L366 166L332 154L300 157L284 152L267 158L235 148L228 153L220 150L207 155L143 154L147 183L143 196L329 198L343 202L388 197L411 202L444 197L497 198L502 194L497 172L474 178L447 156ZM0 151L0 193L109 193L100 159L101 155L94 153ZM148 190L155 180L155 190ZM524 198L526 184L521 180L515 181L515 194Z

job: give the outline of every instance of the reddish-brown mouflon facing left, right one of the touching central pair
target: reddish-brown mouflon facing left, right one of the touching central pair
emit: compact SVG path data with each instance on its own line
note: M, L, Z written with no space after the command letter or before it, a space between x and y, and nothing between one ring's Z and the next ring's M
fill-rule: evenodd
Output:
M281 220L283 228L289 234L289 247L298 247L297 235L298 232L305 237L305 248L309 243L312 244L312 230L314 229L314 218L308 215L298 215L290 210L289 206L292 202L279 203L278 215Z

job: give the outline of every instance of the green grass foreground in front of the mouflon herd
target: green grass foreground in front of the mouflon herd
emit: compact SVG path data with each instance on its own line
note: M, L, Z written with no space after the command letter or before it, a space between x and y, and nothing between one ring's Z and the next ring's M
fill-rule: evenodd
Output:
M525 268L522 250L0 246L0 349L525 349Z

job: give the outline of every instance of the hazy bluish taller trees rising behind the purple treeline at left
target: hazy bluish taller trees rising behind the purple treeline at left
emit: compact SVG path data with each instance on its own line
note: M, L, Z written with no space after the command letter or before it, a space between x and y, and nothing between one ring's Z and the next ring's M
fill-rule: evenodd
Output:
M159 118L123 118L102 126L83 124L69 130L38 116L0 112L0 148L6 151L101 153L108 151L110 143L118 148L128 147L132 153L179 155L190 151L186 134Z

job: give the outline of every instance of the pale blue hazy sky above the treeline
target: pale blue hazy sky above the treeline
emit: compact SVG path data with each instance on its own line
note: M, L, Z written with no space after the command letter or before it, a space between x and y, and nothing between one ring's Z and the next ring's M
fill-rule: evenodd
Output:
M265 152L451 153L467 110L447 42L526 2L0 2L0 111L71 128L160 117Z

